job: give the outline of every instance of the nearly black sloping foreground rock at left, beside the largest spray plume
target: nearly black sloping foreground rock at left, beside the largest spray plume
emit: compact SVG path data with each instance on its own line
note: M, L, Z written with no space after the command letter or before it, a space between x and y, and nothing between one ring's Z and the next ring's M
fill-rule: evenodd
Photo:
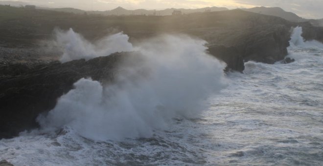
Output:
M128 53L115 53L89 61L51 62L0 67L0 139L38 126L35 119L56 105L56 100L81 78L101 83L113 80L116 66Z

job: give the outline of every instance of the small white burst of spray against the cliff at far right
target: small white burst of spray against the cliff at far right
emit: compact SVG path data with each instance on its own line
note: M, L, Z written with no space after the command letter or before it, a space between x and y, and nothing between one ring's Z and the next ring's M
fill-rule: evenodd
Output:
M305 41L304 38L301 36L303 33L302 27L297 26L293 29L293 33L291 36L291 40L289 41L291 47L301 47L301 48L321 48L323 49L323 43L318 42L316 40L312 41Z

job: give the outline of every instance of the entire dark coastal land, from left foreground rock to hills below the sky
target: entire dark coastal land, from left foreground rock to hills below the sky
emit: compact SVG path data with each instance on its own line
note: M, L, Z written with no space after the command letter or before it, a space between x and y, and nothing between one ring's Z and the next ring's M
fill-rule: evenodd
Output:
M306 40L323 41L323 28L309 22L291 22L243 10L200 12L177 16L101 16L0 5L0 138L37 127L39 113L52 109L56 99L80 78L113 81L117 62L127 53L115 53L88 62L57 62L58 52L43 44L53 29L73 28L95 41L117 29L136 44L160 34L187 34L208 42L211 55L242 72L244 62L284 60L291 28L303 27Z

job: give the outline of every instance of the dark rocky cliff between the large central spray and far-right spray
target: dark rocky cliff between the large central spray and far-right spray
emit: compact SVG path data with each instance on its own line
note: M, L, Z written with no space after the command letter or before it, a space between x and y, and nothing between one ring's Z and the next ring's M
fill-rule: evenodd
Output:
M273 64L288 54L290 28L284 25L254 27L232 46L209 45L209 53L227 63L226 70L242 72L244 62Z

